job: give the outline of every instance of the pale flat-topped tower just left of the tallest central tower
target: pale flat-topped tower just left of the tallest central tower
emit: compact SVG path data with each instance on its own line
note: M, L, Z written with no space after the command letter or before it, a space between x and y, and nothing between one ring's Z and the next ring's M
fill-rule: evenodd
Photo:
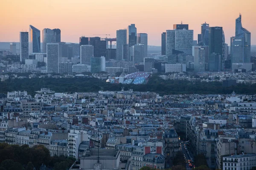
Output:
M127 43L127 30L119 29L116 30L116 60L125 59L125 53L127 53L127 47L124 48L124 45ZM126 49L126 50L124 50Z

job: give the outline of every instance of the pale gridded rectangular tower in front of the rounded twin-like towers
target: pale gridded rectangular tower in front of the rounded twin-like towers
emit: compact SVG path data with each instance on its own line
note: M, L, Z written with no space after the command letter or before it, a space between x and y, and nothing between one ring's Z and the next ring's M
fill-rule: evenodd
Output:
M47 73L59 73L59 44L47 43Z

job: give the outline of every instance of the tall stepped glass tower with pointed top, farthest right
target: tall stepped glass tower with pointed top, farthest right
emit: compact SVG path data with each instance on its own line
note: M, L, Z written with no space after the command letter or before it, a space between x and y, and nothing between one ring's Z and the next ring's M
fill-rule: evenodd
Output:
M241 23L241 14L236 19L235 37L230 38L230 55L232 63L250 62L251 33Z

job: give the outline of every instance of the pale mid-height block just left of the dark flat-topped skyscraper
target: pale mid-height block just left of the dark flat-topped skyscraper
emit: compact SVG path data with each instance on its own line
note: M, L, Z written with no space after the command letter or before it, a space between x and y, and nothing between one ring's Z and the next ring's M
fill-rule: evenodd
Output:
M208 68L208 46L193 46L194 69L196 72L205 71Z

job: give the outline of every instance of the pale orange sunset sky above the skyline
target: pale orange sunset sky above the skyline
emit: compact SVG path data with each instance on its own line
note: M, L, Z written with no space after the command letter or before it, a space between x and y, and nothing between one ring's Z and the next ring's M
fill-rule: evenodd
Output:
M0 7L0 42L19 42L30 24L41 30L41 39L44 28L60 28L61 41L79 42L82 35L116 37L116 30L134 23L137 33L148 34L148 45L161 45L161 33L182 21L194 30L194 40L201 23L222 26L230 44L240 12L256 45L255 0L0 0Z

